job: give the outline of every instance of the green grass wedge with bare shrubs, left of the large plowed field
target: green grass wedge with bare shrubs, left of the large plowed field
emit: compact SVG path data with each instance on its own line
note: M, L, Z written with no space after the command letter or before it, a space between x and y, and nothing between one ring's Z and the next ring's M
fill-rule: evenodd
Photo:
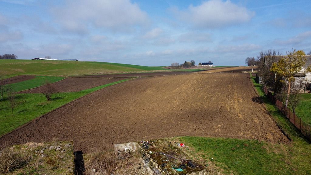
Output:
M56 93L52 96L53 99L51 101L46 101L42 94L17 94L16 101L18 104L13 111L13 115L9 100L7 97L4 97L0 101L0 136L86 94L124 81L127 80L101 85L80 92Z

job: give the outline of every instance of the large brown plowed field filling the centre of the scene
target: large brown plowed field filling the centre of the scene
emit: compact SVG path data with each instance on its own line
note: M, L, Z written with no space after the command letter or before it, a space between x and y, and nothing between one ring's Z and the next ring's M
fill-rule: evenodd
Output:
M173 136L288 142L257 97L248 73L137 78L91 93L0 138L73 140L75 150Z

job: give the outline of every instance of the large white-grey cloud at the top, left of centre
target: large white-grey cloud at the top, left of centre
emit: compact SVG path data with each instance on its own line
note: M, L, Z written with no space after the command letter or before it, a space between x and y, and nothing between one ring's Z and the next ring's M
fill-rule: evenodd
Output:
M69 31L86 32L89 25L99 29L128 31L148 23L146 12L129 0L67 0L52 11L56 22Z

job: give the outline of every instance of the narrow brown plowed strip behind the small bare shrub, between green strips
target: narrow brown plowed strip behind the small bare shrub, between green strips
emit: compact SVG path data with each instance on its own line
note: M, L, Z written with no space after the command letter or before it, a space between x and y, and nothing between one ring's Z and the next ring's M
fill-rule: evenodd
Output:
M78 92L84 89L100 86L103 84L113 83L122 79L110 78L65 78L61 81L53 83L56 92ZM40 87L28 89L19 93L41 93Z

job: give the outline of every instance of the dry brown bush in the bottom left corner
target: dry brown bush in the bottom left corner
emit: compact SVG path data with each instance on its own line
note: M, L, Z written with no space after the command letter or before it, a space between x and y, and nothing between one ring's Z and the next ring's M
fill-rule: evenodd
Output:
M7 147L0 151L0 173L8 173L26 163L26 159L13 147Z

